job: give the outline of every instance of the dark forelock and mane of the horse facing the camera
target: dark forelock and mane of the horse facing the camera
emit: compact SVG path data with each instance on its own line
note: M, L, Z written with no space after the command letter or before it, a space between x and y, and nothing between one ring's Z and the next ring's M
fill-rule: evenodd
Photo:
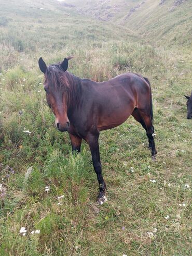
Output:
M77 105L80 102L82 92L81 79L75 77L68 71L63 71L59 64L51 65L47 68L45 79L55 90L64 90L67 93L67 104Z

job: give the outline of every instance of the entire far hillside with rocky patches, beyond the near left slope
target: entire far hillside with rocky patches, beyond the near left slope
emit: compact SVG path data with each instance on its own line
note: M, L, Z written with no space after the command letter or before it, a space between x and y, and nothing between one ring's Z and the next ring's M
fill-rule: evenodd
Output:
M125 26L158 45L191 47L191 1L97 0L79 2L78 0L66 0L62 4L66 5L66 3L74 5L68 6L68 9Z

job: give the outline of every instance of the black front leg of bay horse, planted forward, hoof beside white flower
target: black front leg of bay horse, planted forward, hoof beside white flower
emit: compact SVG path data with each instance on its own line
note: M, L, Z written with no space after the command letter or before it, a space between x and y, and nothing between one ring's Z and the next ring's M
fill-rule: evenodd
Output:
M93 162L93 167L95 170L95 173L97 174L98 182L99 182L99 196L97 198L97 201L100 204L103 204L107 199L105 197L105 190L106 190L106 185L105 181L102 176L102 167L101 167L101 160L100 160L100 153L99 153L99 132L96 134L89 134L86 138L86 141L89 144L89 148L91 151L91 156L92 156L92 162Z

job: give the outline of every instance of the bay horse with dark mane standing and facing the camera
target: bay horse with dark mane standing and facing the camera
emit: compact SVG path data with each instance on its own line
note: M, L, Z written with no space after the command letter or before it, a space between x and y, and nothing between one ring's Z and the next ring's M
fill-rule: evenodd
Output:
M102 204L106 185L99 153L100 131L119 126L132 115L146 130L155 159L152 91L148 79L138 74L125 73L105 82L80 79L66 71L71 58L47 67L40 57L38 64L45 75L44 89L56 127L68 131L72 152L80 152L82 139L89 144Z

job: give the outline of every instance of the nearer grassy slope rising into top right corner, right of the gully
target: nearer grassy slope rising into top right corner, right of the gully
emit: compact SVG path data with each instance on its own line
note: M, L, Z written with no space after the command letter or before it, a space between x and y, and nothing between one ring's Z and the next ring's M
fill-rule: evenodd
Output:
M122 23L158 44L188 46L192 42L192 2L147 0Z

